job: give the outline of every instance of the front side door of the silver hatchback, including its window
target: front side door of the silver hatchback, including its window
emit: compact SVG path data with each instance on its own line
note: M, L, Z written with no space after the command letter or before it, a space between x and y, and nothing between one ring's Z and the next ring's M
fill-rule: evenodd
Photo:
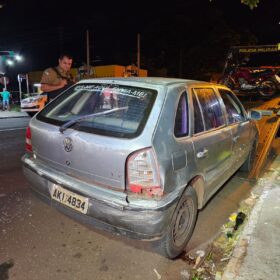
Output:
M219 89L225 104L227 123L232 131L233 161L236 169L243 163L251 147L248 141L251 138L250 123L245 117L245 111L237 97L226 89Z

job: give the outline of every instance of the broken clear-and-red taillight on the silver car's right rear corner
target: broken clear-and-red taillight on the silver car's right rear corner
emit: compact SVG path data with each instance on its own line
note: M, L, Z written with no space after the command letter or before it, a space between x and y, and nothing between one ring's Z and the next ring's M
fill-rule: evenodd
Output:
M163 195L157 161L151 148L137 151L128 158L127 184L134 193Z

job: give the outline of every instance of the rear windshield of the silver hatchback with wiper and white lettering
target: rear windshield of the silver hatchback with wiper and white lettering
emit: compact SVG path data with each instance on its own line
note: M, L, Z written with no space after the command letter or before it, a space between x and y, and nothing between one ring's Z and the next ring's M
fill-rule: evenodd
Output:
M52 101L37 119L58 126L72 121L71 128L76 130L133 138L143 130L156 95L148 88L77 84Z

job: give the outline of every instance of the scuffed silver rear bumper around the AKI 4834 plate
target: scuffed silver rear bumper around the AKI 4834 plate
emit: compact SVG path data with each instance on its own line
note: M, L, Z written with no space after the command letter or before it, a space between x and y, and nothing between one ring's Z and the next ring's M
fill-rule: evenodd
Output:
M160 239L175 210L180 194L167 196L160 201L131 199L124 192L102 189L36 163L25 155L23 172L36 196L79 222L96 228L125 235L130 238ZM89 198L89 208L82 214L54 201L50 186L58 184Z

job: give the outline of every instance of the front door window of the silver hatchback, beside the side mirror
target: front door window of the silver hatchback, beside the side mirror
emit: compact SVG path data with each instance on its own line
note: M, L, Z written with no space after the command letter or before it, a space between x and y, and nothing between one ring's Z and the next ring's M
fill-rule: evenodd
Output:
M243 111L238 102L235 101L234 95L225 89L219 89L219 92L225 104L228 123L233 124L244 121L245 117Z

